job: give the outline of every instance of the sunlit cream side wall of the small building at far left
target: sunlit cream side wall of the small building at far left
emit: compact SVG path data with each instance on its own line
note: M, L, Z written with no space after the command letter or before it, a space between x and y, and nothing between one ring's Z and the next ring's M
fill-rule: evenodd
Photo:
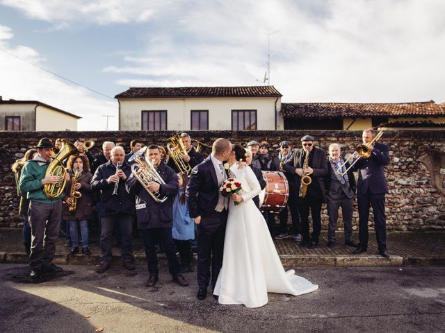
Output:
M35 130L77 130L77 118L39 105L35 114Z

